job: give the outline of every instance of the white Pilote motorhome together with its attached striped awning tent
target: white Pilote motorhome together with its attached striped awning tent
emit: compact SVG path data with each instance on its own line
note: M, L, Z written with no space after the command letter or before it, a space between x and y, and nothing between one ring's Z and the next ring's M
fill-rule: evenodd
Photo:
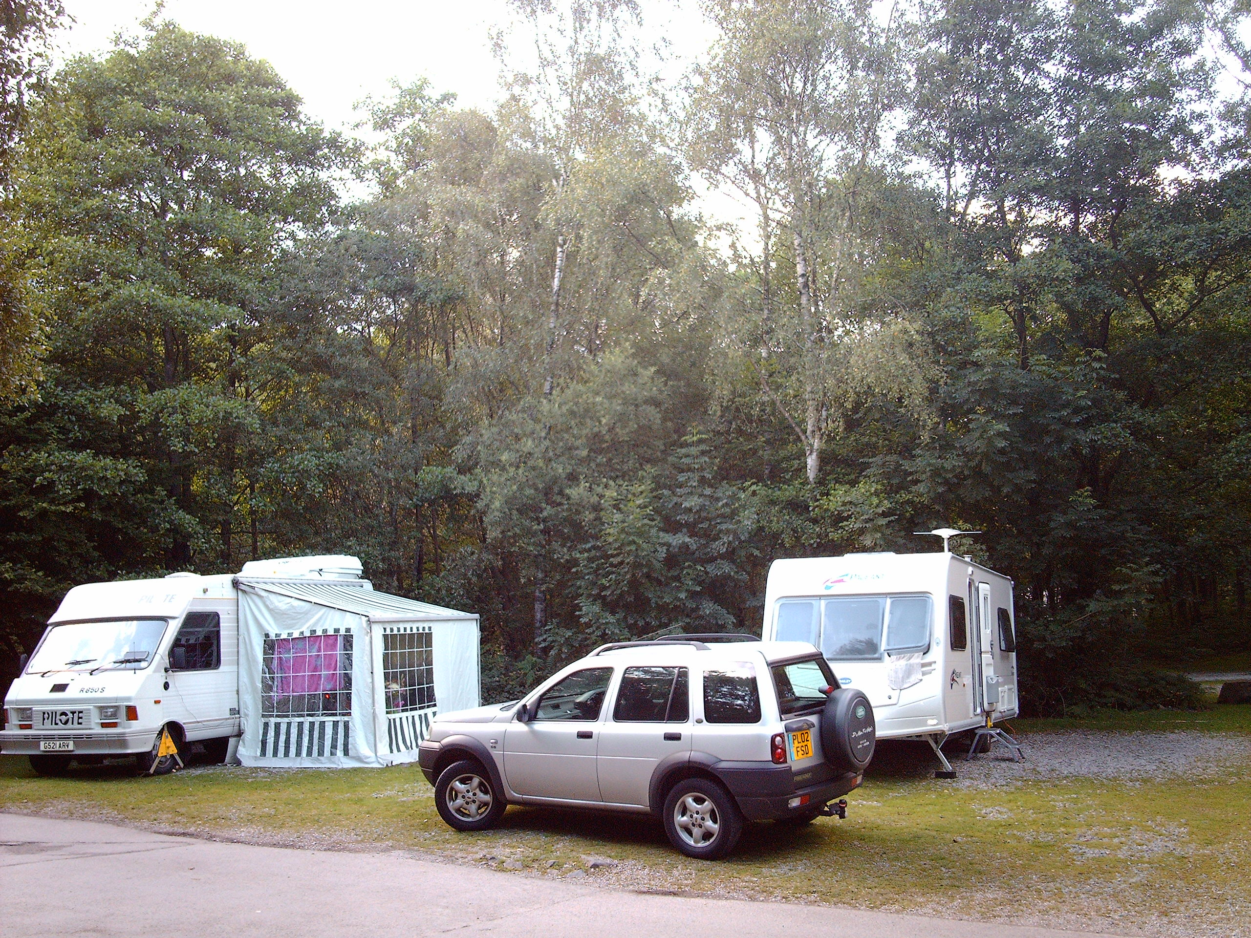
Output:
M238 575L75 587L4 702L0 750L41 774L195 747L249 765L417 759L429 720L479 703L478 617L374 592L354 557Z

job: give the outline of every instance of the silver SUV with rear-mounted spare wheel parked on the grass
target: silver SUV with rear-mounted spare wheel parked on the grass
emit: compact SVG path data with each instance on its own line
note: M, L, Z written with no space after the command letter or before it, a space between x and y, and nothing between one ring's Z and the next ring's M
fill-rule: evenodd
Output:
M727 640L728 639L728 640ZM658 814L717 859L744 820L846 815L873 708L802 642L679 635L595 649L522 700L437 717L419 763L458 830L508 804Z

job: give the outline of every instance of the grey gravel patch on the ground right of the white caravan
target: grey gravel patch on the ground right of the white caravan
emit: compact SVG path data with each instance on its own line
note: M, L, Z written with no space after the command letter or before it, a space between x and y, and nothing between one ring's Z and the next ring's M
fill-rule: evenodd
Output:
M1047 778L1100 778L1138 782L1187 778L1246 777L1251 773L1251 740L1233 733L1100 733L1068 730L1031 733L1018 742L1025 762L1012 762L1007 749L965 762L947 753L961 788L1001 788Z

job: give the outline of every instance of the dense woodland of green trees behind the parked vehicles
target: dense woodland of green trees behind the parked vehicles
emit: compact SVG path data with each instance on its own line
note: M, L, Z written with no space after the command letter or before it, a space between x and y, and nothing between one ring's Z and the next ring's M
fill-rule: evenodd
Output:
M708 0L681 100L628 0L518 10L494 113L398 88L372 149L168 23L40 90L9 670L74 583L352 553L480 613L505 694L946 524L1016 580L1036 710L1251 652L1237 6Z

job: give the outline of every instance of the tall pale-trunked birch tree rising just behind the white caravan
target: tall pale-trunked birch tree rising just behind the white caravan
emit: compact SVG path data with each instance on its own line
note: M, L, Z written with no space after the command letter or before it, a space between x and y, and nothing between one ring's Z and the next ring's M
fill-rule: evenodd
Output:
M721 38L696 73L696 166L754 208L752 270L727 344L803 446L809 483L843 413L866 394L916 403L921 343L908 320L861 293L872 245L866 200L904 88L904 24L864 0L708 0ZM784 268L783 268L784 265ZM793 271L793 273L791 273Z

